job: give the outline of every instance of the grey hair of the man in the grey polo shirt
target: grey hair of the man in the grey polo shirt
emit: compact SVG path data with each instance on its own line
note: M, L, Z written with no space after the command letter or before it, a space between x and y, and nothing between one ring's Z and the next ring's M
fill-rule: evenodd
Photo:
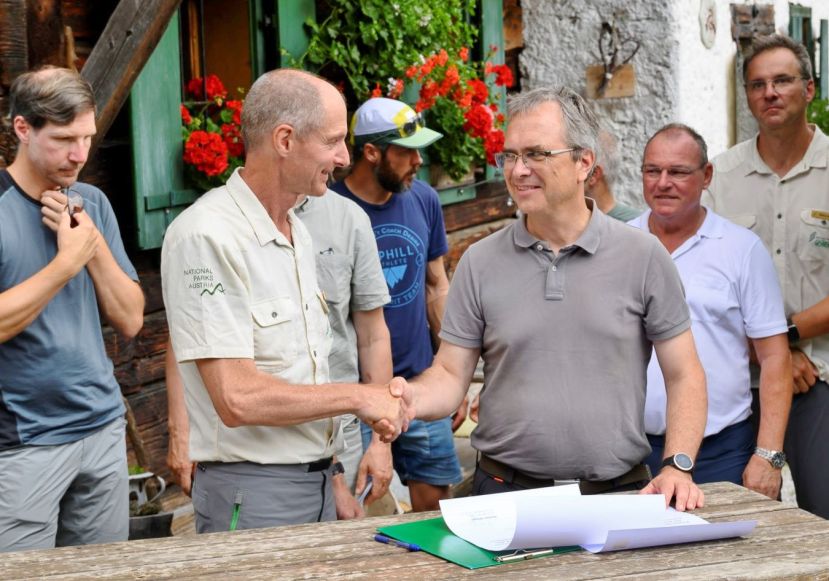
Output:
M510 97L507 111L510 119L529 113L545 103L558 103L564 119L562 138L567 147L576 149L571 155L579 159L582 149L595 153L599 122L587 102L567 87L539 87Z

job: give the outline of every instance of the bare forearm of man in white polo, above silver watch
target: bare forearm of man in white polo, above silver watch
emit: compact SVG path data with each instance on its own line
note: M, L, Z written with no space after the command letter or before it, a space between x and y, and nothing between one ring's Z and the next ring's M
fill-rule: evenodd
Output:
M753 341L760 363L760 428L757 445L782 450L792 405L792 364L784 335Z

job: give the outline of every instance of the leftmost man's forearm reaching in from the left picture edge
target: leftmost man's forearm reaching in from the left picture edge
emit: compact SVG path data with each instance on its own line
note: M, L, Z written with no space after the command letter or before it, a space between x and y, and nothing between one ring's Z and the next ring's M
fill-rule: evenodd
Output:
M55 258L30 278L0 293L0 343L31 325L75 274Z

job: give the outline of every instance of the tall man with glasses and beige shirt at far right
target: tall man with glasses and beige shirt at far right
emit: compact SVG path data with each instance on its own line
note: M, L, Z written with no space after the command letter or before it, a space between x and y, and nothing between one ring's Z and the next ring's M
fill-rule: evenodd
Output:
M763 240L783 289L795 393L785 455L755 454L788 459L800 507L829 518L829 138L806 123L815 83L802 45L757 39L743 71L760 131L714 159L703 201Z

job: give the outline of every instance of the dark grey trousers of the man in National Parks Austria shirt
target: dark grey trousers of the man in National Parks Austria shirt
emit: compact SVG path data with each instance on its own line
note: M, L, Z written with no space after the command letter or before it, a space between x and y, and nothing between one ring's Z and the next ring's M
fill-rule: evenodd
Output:
M337 520L331 469L308 464L199 462L193 480L196 532Z

